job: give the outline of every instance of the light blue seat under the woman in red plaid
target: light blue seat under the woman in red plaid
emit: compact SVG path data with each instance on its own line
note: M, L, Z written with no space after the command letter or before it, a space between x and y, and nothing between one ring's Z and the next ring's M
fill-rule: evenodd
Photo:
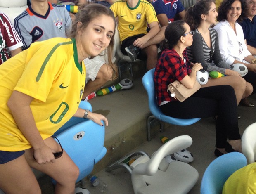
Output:
M156 119L158 119L161 122L161 132L163 132L163 122L169 123L172 125L191 125L193 123L196 123L200 120L200 118L191 118L191 119L181 119L181 118L173 118L171 116L166 116L161 112L159 109L159 106L156 102L156 91L155 91L155 85L154 85L154 69L151 69L145 73L145 75L142 78L142 83L144 88L147 90L148 100L149 100L149 109L152 113L152 116L149 116L147 118L147 140L151 140L150 135L150 128L152 123L155 122Z

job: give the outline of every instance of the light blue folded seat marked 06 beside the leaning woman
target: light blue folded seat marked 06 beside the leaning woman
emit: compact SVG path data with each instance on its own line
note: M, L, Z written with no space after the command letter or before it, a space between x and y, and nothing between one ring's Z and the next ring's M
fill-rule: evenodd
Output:
M89 102L82 101L79 107L92 111ZM105 127L88 119L72 117L53 136L78 166L77 182L90 174L107 152L104 147Z

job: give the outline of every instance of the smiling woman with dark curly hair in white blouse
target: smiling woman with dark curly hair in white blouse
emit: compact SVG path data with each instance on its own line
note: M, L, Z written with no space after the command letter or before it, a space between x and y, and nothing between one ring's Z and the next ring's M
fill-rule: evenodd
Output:
M244 33L237 21L242 21L246 13L244 0L224 0L218 8L219 21L214 29L218 32L219 47L222 59L231 66L232 64L244 64L248 73L243 78L251 83L256 92L256 64L244 43Z

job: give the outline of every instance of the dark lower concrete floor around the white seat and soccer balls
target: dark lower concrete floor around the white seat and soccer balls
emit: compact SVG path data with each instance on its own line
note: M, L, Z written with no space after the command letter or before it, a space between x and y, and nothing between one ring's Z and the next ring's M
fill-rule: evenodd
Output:
M256 95L249 97L249 101L254 103L255 107L238 106L238 114L242 117L239 119L239 130L241 135L247 126L256 122ZM129 106L129 104L124 104L122 109L125 109L126 106ZM216 133L215 121L213 118L204 118L189 126L170 125L163 133L156 133L150 142L144 142L136 149L130 151L130 153L133 153L134 151L145 151L149 156L151 156L154 151L161 147L161 136L166 136L171 139L179 135L190 135L193 139L191 147L187 149L194 156L194 161L190 163L190 165L198 170L199 180L189 194L199 194L201 178L204 171L209 163L216 159L216 156L214 155ZM96 175L108 185L108 194L133 194L131 176L124 168L112 170L111 172L106 172L105 169L103 169L97 172ZM88 183L88 181L86 182L85 187L91 192L91 194L98 193L97 190Z

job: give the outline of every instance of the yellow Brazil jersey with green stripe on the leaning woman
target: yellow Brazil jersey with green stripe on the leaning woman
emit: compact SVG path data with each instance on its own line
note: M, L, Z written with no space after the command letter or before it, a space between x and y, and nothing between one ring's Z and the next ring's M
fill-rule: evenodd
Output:
M53 135L78 109L85 86L85 67L78 63L75 39L36 42L0 66L0 150L31 145L7 106L13 90L33 97L31 110L43 139Z

